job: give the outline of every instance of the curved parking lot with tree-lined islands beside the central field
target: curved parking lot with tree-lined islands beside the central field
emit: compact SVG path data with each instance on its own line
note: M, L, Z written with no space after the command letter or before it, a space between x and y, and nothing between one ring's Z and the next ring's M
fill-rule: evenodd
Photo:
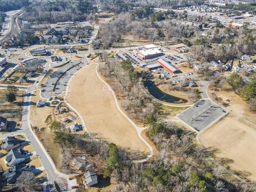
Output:
M86 62L84 61L81 62L78 60L78 61L69 62L65 66L59 68L57 71L55 71L51 75L51 77L49 77L46 80L45 87L43 87L44 91L42 92L42 96L44 98L49 98L49 97L54 97L61 94L63 91L66 90L69 79L76 73L77 70L83 68L86 65L87 65ZM61 78L59 79L59 77ZM54 90L54 85L56 82L57 82L57 86L55 87L55 90Z

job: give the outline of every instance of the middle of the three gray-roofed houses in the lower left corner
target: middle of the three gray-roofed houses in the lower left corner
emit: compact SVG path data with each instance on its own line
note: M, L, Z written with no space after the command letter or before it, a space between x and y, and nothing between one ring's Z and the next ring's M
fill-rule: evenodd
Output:
M5 161L8 166L14 166L26 160L26 155L22 149L11 149L7 153Z

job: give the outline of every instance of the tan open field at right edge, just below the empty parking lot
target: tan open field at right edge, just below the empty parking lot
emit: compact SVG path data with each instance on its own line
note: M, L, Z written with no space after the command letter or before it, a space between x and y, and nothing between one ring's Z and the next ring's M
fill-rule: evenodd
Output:
M229 114L200 135L205 147L218 149L217 157L233 159L231 168L251 172L249 179L256 180L255 127L246 125Z

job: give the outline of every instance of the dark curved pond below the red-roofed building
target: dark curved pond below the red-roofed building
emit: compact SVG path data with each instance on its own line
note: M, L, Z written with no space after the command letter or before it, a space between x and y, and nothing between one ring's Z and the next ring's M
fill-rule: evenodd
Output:
M186 99L181 99L178 97L174 97L163 91L159 90L158 87L152 81L146 81L144 86L148 89L148 92L153 95L154 98L159 99L164 102L169 103L177 103L178 101L182 100L182 103L188 102Z

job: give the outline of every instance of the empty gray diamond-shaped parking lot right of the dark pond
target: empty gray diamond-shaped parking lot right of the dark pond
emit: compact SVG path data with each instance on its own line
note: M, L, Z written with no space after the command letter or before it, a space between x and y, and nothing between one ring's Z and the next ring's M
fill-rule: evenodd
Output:
M228 111L217 106L211 100L204 99L196 102L177 117L199 132L219 121L227 113Z

